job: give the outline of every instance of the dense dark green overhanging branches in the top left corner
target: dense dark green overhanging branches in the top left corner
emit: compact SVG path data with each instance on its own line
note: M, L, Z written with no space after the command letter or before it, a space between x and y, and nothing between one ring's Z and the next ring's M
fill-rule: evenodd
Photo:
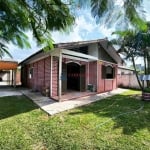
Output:
M0 0L0 57L9 54L6 43L30 47L26 31L38 44L52 47L51 31L66 30L74 23L68 4L61 0Z

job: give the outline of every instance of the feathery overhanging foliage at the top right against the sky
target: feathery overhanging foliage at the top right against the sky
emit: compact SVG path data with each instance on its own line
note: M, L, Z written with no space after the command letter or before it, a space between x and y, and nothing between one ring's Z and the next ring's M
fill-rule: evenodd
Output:
M90 6L91 14L97 23L104 20L110 26L118 21L118 26L130 25L137 29L146 30L143 0L78 0L81 7ZM120 3L119 3L120 2ZM139 11L140 10L140 11Z

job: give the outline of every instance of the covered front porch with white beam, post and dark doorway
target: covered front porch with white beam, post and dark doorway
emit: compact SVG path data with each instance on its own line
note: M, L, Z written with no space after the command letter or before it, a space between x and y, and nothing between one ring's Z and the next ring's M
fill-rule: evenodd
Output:
M51 52L50 96L58 101L95 94L87 91L90 84L89 66L97 58L87 54L55 49Z

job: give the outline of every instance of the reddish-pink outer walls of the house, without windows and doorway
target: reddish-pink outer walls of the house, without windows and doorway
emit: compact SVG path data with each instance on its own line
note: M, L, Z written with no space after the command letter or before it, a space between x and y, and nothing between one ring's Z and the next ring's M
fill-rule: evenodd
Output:
M84 62L71 59L63 58L63 63L76 62L80 66L85 65L85 87L87 89L88 84L94 85L97 93L102 93L106 91L111 91L117 88L117 65L113 64L115 69L115 77L113 79L103 79L102 78L102 65L108 65L109 63L92 61ZM30 68L33 68L33 77L29 77ZM59 71L59 57L53 56L52 62L52 89L51 87L51 57L47 57L36 61L34 63L28 64L22 67L22 79L24 81L23 85L26 85L29 88L34 90L42 91L43 87L49 88L52 90L51 97L58 96L58 71ZM25 73L26 72L26 73ZM26 82L25 77L26 76ZM86 90L85 89L85 90Z

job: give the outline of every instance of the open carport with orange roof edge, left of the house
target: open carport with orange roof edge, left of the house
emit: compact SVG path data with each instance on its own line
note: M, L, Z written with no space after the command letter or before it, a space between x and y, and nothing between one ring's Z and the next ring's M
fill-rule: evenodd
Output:
M16 86L16 72L18 62L0 60L0 86Z

